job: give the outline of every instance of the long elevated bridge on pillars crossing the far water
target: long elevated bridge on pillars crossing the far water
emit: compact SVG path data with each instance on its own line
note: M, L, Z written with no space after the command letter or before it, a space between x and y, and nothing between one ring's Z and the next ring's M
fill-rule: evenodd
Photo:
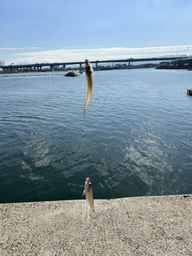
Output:
M124 62L128 63L128 67L130 67L131 62L140 62L140 61L173 61L178 58L183 57L166 57L166 58L128 58L128 59L118 59L118 60L97 60L97 61L90 61L91 63L95 64L95 69L97 70L97 65L99 63L118 63ZM35 63L35 64L19 64L19 65L9 65L9 66L0 66L3 70L38 70L41 71L42 67L50 67L51 71L54 71L54 66L62 65L63 70L66 71L67 65L79 65L79 69L82 70L82 65L84 65L84 61L75 61L75 62L59 62L59 63Z

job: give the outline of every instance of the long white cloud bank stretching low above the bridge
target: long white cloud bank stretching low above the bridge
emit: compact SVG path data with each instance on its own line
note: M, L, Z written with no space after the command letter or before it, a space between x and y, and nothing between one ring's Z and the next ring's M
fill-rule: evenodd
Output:
M38 52L20 52L12 54L10 61L15 64L84 61L85 58L88 58L90 61L102 61L104 59L146 58L183 54L192 54L192 45L144 48L58 49Z

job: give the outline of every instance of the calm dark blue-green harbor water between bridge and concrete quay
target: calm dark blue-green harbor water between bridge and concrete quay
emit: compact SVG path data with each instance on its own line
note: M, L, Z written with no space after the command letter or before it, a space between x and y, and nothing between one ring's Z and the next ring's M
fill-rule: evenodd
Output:
M36 74L0 75L0 203L192 193L192 72L95 72L85 116L85 74Z

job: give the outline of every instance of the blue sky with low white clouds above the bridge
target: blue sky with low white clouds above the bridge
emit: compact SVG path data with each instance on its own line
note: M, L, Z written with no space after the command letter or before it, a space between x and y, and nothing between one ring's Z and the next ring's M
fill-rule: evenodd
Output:
M0 0L6 64L192 55L192 0Z

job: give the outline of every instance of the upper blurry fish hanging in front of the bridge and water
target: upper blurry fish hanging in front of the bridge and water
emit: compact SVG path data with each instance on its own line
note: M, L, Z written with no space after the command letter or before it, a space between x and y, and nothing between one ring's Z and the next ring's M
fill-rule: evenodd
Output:
M87 80L87 98L84 104L84 114L90 101L93 91L93 67L88 60L85 60L86 80Z

